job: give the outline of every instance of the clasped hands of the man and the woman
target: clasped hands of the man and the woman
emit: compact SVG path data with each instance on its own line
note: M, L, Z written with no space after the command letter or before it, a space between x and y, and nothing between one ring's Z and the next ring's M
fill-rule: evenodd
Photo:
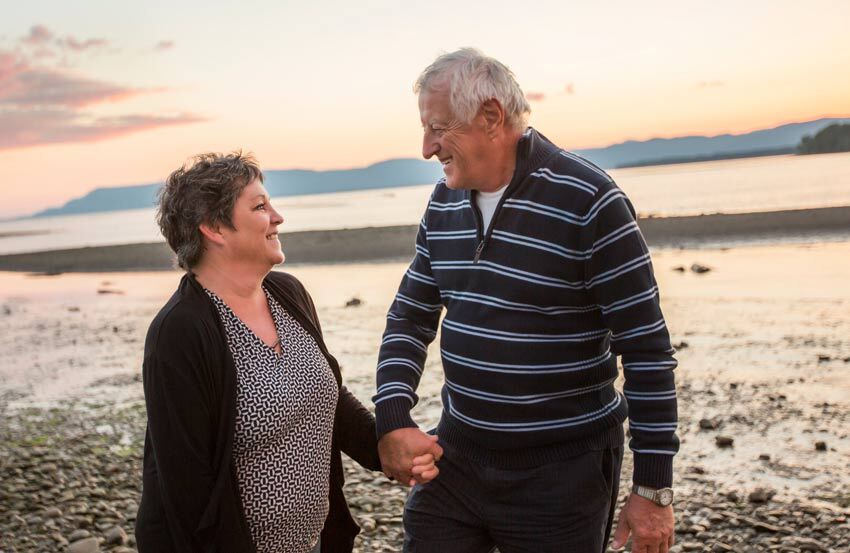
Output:
M436 478L439 469L434 463L443 456L443 448L437 436L418 428L399 428L381 437L378 454L384 474L413 486Z

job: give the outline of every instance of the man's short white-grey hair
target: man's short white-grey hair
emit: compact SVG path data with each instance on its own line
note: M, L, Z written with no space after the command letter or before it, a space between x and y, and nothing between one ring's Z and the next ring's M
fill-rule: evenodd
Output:
M455 117L469 123L487 100L496 99L505 110L507 124L525 130L531 106L513 72L497 59L475 48L461 48L439 56L425 68L413 92L430 90L448 79L449 105Z

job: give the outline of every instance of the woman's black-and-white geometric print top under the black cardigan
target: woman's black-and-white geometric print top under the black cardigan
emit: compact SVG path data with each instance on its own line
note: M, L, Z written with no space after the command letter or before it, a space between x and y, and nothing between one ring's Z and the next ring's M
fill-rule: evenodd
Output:
M237 374L233 462L258 553L307 553L328 514L339 389L316 341L263 288L282 353L215 293Z

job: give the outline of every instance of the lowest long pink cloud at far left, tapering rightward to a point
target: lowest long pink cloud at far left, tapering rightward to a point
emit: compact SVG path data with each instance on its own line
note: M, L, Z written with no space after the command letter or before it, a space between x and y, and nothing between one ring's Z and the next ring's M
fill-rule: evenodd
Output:
M91 117L62 109L0 111L0 150L63 142L96 142L206 120L191 113Z

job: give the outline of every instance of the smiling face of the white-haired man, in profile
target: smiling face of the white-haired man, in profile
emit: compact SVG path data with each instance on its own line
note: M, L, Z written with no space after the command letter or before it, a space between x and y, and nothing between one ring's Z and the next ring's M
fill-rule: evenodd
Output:
M447 84L420 92L419 116L424 131L422 157L437 156L446 173L446 186L478 190L505 184L489 182L495 151L483 115L477 114L471 123L459 121L449 106Z

